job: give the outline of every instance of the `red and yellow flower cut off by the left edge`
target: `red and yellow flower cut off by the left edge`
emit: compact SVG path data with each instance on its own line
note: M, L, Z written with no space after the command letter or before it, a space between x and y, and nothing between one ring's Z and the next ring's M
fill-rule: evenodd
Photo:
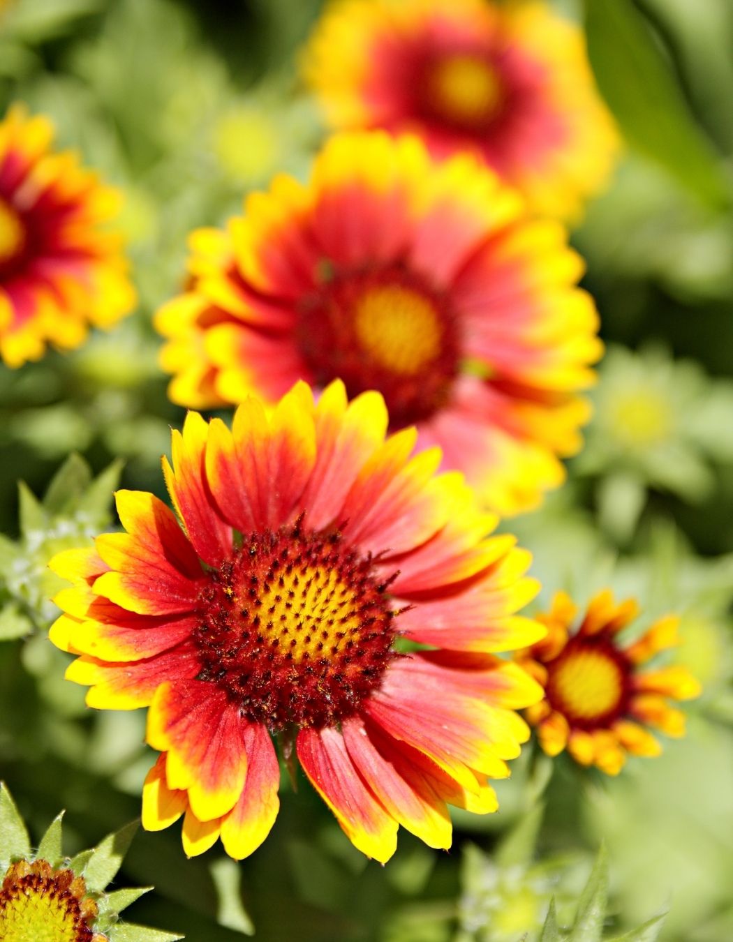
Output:
M51 151L53 127L13 106L0 121L0 358L38 360L48 343L78 347L90 325L110 327L135 292L122 236L106 227L117 190Z

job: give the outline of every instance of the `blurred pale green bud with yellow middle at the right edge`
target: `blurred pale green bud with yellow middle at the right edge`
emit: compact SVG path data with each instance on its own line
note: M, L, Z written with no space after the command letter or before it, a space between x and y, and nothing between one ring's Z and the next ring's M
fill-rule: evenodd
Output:
M699 500L710 459L733 461L733 383L711 380L660 347L612 347L601 367L588 444L575 464L599 475L601 518L620 536L636 524L646 488Z

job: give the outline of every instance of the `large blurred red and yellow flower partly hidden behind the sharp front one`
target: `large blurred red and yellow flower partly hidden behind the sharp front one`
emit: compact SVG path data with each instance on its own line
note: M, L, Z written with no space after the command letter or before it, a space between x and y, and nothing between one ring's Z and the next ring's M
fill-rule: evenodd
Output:
M378 389L481 499L527 510L580 447L600 356L562 225L473 157L417 138L337 135L308 186L277 177L225 232L191 237L189 285L156 317L171 398L202 408L299 379Z

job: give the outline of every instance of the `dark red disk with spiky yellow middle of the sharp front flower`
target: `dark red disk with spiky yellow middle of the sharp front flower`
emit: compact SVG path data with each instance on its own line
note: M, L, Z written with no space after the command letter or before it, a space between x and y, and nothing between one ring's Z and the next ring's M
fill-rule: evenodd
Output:
M201 596L199 679L272 732L339 723L394 657L389 581L338 532L299 522L246 537Z

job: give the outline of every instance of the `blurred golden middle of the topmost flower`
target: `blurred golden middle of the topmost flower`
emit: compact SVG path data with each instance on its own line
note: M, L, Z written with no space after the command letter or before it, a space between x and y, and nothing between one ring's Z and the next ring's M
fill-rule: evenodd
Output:
M445 118L477 124L496 114L502 89L496 70L485 59L460 54L432 66L428 94L432 107Z

